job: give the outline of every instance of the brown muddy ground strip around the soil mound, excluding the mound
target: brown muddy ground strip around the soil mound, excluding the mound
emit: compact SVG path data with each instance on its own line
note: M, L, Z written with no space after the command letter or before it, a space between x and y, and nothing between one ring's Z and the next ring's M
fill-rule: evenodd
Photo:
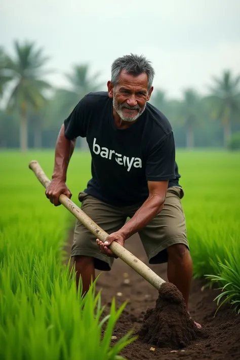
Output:
M69 234L66 250L70 250L72 233ZM167 266L149 265L138 235L132 236L126 242L126 248L145 262L153 271L167 281ZM96 272L99 274L99 271ZM128 284L125 284L126 278ZM170 348L157 348L151 344L144 344L136 340L125 348L121 355L128 360L230 360L240 359L240 315L232 312L228 306L223 306L214 317L216 302L213 299L219 294L218 290L203 288L204 282L192 282L189 310L193 319L203 326L209 335L207 339L192 342L183 350ZM119 306L125 300L128 304L116 324L114 334L118 339L130 329L138 329L148 308L155 306L158 296L147 281L126 265L122 260L116 259L110 272L102 272L98 280L97 289L102 289L102 304L109 305L113 296ZM121 294L119 294L121 293ZM117 340L115 340L117 341ZM155 351L150 351L151 347Z

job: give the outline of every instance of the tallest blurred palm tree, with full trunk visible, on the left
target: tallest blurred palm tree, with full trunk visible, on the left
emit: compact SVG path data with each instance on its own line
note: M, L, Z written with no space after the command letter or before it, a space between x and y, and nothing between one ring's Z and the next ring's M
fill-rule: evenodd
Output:
M27 150L27 116L29 111L36 113L46 101L45 90L49 83L42 79L43 67L48 58L43 56L42 49L35 49L34 43L20 45L14 42L15 58L7 56L8 75L13 79L13 90L7 108L17 110L20 116L20 147ZM46 73L46 72L45 72Z

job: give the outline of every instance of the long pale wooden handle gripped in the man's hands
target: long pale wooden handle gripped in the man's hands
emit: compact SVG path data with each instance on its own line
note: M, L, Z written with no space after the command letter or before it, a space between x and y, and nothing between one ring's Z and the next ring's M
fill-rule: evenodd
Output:
M41 184L47 188L51 181L48 179L38 162L32 160L29 163L29 168L34 172ZM59 202L67 210L69 210L92 234L94 234L96 238L99 238L102 242L105 241L108 233L101 229L101 227L99 227L87 214L85 214L83 210L78 208L66 195L61 194L59 196ZM116 256L132 267L139 275L145 278L157 290L159 290L162 284L165 283L164 279L159 277L146 264L144 264L123 246L116 242L112 242L109 248Z

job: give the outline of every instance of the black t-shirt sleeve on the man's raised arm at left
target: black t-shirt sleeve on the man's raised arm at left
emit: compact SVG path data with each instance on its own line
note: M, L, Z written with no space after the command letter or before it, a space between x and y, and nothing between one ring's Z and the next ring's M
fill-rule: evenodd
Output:
M78 136L86 137L88 118L86 113L86 97L84 97L64 120L64 135L68 140L72 140Z

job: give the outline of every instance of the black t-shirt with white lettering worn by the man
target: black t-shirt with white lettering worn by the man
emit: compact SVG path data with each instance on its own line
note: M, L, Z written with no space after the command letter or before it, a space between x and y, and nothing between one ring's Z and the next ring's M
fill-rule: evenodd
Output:
M78 102L64 126L67 139L87 139L92 179L85 192L101 201L115 206L143 203L148 180L178 185L173 131L151 104L128 129L117 129L108 93L90 93Z

